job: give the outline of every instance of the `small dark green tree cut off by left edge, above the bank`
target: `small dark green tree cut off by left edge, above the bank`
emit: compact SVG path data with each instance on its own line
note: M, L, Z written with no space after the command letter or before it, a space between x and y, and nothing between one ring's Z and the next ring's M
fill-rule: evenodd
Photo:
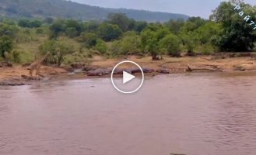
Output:
M13 48L12 38L10 36L0 37L0 55L6 59L6 54L10 53Z

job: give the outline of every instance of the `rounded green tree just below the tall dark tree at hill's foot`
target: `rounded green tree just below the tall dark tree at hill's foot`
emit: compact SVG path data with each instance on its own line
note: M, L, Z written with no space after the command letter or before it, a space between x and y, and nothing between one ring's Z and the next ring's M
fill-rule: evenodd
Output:
M104 41L116 40L122 35L122 31L117 25L103 23L99 28L99 36Z

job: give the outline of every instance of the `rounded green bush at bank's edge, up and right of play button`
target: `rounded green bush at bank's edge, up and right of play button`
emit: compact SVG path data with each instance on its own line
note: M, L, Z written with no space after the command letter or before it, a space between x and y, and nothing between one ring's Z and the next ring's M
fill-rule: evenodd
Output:
M174 57L181 56L181 40L174 34L169 34L160 40L160 50Z

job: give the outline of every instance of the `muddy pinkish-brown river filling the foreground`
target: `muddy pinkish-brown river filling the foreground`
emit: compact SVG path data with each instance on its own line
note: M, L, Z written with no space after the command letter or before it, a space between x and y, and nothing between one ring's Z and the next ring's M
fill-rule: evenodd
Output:
M256 76L147 77L0 87L1 155L255 155Z

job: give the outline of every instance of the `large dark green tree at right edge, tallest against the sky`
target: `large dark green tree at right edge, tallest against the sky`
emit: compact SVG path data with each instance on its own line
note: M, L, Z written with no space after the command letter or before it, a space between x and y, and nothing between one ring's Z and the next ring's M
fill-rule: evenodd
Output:
M256 8L238 1L241 10L237 12L234 3L237 1L222 2L216 8L210 19L221 23L223 31L214 40L216 46L226 51L247 51L254 48L256 42L256 33L250 21L256 21ZM250 15L250 21L245 20L245 16L240 15L243 11L244 15Z

